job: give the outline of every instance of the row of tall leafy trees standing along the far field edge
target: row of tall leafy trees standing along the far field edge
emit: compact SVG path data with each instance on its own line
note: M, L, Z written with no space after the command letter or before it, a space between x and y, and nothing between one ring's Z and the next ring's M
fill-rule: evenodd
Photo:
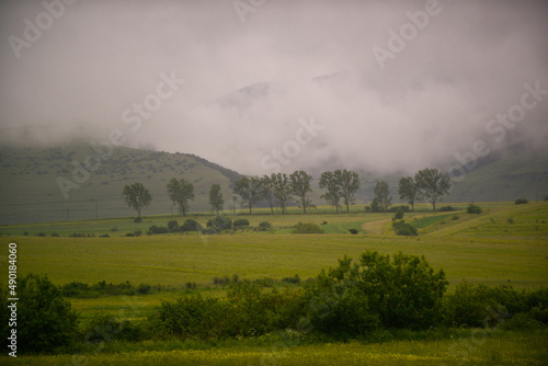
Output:
M236 207L240 203L242 207L249 208L253 214L253 207L266 203L271 213L279 208L282 215L292 203L306 214L308 208L315 208L310 193L312 192L312 175L302 170L286 173L272 173L271 175L242 176L233 182L231 201ZM336 213L343 207L350 211L350 205L355 204L355 194L359 190L359 175L356 172L344 170L327 171L321 173L319 187L324 190L321 198L328 205L334 206ZM436 209L436 203L446 196L452 187L450 179L437 169L423 169L413 176L402 176L398 182L398 194L414 208L414 203L425 201ZM190 210L190 204L194 201L194 184L185 179L173 178L167 186L170 199L178 206L179 213L185 216ZM124 199L133 207L140 219L142 207L150 204L152 196L141 184L126 185L123 192ZM374 190L374 198L369 210L387 211L392 204L390 187L387 182L378 181ZM225 208L225 198L219 184L213 184L209 188L209 205L212 210L219 213Z

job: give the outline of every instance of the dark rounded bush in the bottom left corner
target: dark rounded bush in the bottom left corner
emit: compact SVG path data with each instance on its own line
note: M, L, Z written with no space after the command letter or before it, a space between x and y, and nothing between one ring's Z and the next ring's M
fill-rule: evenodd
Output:
M18 283L18 355L52 353L70 345L77 336L78 316L61 290L46 275L27 274ZM11 310L7 294L1 296L1 328L8 338Z

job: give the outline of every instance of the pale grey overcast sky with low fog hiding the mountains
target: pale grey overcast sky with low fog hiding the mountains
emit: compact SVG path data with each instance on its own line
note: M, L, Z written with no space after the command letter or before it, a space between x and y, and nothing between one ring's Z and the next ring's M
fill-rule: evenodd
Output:
M490 124L548 90L546 1L66 2L0 3L0 144L119 129L248 174L547 144L548 92Z

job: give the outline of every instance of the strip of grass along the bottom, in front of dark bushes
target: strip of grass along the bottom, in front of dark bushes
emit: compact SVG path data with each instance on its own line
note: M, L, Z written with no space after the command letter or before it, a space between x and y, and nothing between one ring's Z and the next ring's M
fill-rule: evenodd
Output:
M0 358L3 365L546 365L548 332L475 330L435 341L299 345L286 340L264 346L207 350L95 352L84 355ZM168 345L169 347L169 345Z

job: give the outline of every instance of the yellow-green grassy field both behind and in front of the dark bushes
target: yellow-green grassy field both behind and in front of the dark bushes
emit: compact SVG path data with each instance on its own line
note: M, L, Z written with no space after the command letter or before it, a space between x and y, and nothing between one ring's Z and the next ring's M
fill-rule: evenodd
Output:
M404 216L419 229L418 237L396 236L391 229L393 214L358 213L356 207L351 214L334 214L331 208L319 207L306 216L296 209L288 215L270 215L265 209L258 209L254 215L238 211L238 218L249 219L251 228L222 235L145 235L151 225L165 226L173 218L182 224L185 219L164 215L147 216L140 224L133 222L130 218L117 218L1 226L0 239L5 247L9 242L18 243L20 276L45 273L58 285L72 281L89 284L129 281L134 285L145 283L164 287L150 295L70 298L84 322L99 311L118 319L145 319L162 299L174 299L191 293L222 297L225 289L214 285L215 277L238 275L239 278L267 277L274 281L294 275L302 279L315 277L322 268L336 265L338 259L343 255L357 259L366 250L424 255L435 270L445 271L449 291L463 279L489 286L510 282L518 289L548 287L548 203L478 205L483 208L480 215L467 214L466 206L458 204L453 204L457 208L453 213L433 213L426 210L426 205L419 205L414 213L406 213ZM204 226L209 217L206 214L192 216ZM271 222L272 230L253 230L261 221ZM290 227L297 222L318 224L326 233L289 233ZM350 228L359 229L358 233L351 235L347 231ZM126 237L136 230L141 230L142 235ZM52 233L55 233L54 237ZM90 237L72 238L72 233ZM99 237L105 233L109 237ZM2 254L1 260L4 265L7 254ZM3 271L2 277L7 278ZM189 283L195 283L196 288L186 288ZM470 342L475 338L467 335L464 340ZM547 340L546 332L536 335L495 332L486 336L481 346L473 347L469 361L478 365L540 365L546 352L537 346L543 342L546 344ZM170 348L169 344L157 347L145 342L135 345L138 350L126 345L122 351L106 348L99 355L87 357L90 364L107 365L124 365L132 361L146 364L152 363L152 359L162 364L240 365L260 364L264 354L274 353L278 364L284 365L310 362L320 365L439 365L456 362L448 350L457 341L399 340L368 345L336 344L332 347L322 343L294 344L275 352L264 350L272 347L276 341L261 342L220 344L213 348L210 344L197 345L197 348L191 346L190 350L181 350L187 344ZM55 365L66 363L68 358L64 355L39 356L26 358L26 362L31 365Z

